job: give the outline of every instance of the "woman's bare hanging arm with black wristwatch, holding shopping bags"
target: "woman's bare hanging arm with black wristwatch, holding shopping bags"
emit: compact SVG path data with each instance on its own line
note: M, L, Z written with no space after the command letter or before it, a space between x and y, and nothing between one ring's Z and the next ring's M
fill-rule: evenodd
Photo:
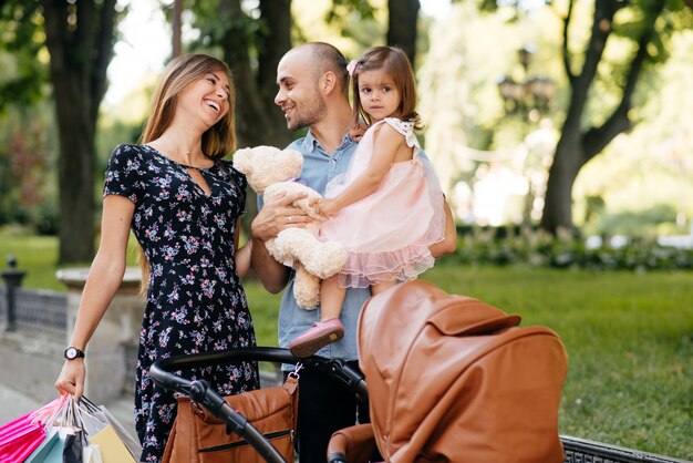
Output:
M107 195L103 200L99 251L84 285L70 346L86 350L89 340L123 281L134 210L135 204L125 196ZM61 393L81 397L84 377L84 359L65 360L55 388Z

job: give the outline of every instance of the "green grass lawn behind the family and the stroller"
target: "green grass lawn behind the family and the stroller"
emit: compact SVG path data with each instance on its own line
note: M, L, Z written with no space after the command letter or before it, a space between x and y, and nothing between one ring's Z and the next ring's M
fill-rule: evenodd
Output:
M28 271L24 286L62 289L54 238L0 235L0 257L9 253ZM693 460L693 272L461 267L443 259L423 279L560 336L569 356L561 433ZM245 286L258 342L276 346L279 296L257 281Z

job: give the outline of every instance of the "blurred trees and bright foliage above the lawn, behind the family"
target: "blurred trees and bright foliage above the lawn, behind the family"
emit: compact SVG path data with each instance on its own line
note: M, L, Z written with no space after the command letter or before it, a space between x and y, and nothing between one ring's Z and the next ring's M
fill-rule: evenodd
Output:
M590 246L692 233L693 31L683 0L0 7L0 227L58 236L61 264L91 260L110 153L137 140L174 54L225 59L240 145L283 146L301 134L272 103L276 64L316 40L349 59L382 43L407 51L421 136L461 233L565 230Z

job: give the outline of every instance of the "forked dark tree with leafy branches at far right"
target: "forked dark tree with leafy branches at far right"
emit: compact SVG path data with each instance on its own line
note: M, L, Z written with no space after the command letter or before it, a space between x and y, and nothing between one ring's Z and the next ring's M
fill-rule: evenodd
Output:
M590 38L578 58L572 52L576 47L571 47L569 34L573 9L575 0L569 0L562 28L562 61L570 101L549 171L540 223L554 234L572 229L572 186L580 169L634 124L633 93L643 73L668 58L666 43L674 30L693 24L691 4L686 7L681 0L596 0ZM621 11L624 14L617 19ZM610 39L617 35L630 41L632 50L606 75L604 51ZM586 124L586 110L599 81L616 88L620 99L603 122Z

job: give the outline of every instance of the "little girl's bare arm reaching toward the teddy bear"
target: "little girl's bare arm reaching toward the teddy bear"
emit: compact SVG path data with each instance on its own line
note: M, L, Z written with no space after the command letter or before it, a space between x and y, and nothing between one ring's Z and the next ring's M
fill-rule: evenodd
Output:
M319 214L329 217L375 192L395 162L397 152L403 146L411 150L404 136L387 124L380 126L373 143L373 157L368 168L334 198L320 199L317 203Z

